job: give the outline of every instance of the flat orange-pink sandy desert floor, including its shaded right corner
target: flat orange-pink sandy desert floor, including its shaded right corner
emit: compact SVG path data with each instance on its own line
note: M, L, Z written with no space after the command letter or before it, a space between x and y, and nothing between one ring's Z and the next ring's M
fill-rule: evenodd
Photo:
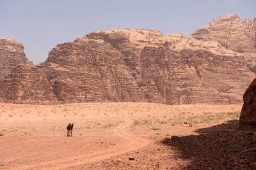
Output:
M0 169L255 169L241 107L0 103Z

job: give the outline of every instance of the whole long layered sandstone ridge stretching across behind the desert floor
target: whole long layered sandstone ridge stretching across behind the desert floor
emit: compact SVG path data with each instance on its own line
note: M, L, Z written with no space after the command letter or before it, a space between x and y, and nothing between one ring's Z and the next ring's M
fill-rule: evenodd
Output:
M216 20L241 24L237 15ZM15 67L0 81L0 101L242 103L255 78L256 54L216 39L204 38L202 31L196 36L128 28L91 32L57 45L45 62Z

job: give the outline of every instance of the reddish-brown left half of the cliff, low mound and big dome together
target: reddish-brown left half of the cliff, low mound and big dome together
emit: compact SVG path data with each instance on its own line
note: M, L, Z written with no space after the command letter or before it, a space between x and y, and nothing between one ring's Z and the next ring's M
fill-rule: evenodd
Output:
M19 66L0 94L4 102L27 104L146 101L118 50L82 39L56 46L44 63Z

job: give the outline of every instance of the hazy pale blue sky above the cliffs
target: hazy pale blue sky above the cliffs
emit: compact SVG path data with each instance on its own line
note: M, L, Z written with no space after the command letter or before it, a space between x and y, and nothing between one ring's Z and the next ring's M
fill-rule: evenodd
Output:
M255 9L253 0L0 0L0 37L22 43L26 57L38 64L57 44L92 31L129 27L190 35L229 13L253 19Z

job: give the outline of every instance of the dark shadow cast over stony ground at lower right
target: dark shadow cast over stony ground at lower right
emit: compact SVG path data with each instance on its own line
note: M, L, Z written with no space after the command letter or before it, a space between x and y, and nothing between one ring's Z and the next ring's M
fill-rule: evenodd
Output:
M198 129L198 135L165 138L162 143L176 150L178 159L189 160L180 169L255 169L255 133L236 131L237 124Z

